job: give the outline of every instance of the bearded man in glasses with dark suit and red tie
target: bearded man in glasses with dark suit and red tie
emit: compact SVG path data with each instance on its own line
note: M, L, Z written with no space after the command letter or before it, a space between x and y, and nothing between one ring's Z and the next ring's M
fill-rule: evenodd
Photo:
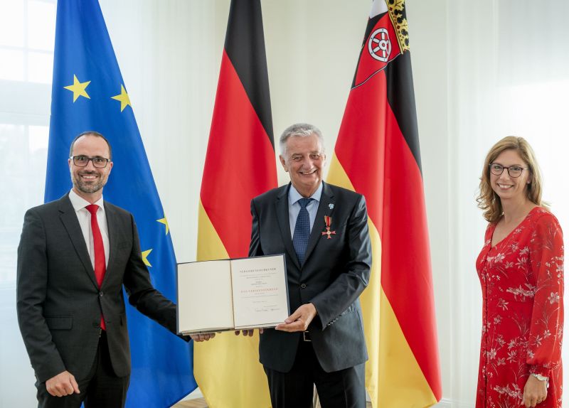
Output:
M131 367L123 284L129 303L172 333L176 305L151 285L132 215L103 201L113 164L107 139L80 134L68 163L73 189L24 218L20 331L39 407L124 407Z

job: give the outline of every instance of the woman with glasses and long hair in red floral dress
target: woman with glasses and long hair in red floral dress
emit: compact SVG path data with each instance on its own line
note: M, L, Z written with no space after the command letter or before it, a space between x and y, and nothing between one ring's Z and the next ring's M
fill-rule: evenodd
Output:
M541 202L541 176L521 137L486 156L479 207L489 222L477 259L482 345L477 408L561 407L563 232Z

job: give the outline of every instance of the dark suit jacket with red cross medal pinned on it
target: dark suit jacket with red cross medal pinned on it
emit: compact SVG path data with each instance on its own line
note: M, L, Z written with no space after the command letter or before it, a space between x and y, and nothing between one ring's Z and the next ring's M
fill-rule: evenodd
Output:
M290 310L312 303L318 315L309 326L314 352L326 372L364 363L367 358L358 301L371 268L366 201L362 195L324 183L304 264L292 246L288 186L270 190L251 202L249 255L284 253L287 261ZM324 215L331 217L328 239ZM265 330L260 335L262 365L288 372L302 333Z

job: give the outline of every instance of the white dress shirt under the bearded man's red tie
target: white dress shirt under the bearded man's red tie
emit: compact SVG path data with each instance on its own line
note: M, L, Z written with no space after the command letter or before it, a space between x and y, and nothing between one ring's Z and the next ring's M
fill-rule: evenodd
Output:
M87 205L90 205L90 203L85 200L85 198L80 197L73 190L69 193L69 199L71 200L71 205L73 205L73 208L75 209L75 215L77 215L79 225L81 226L81 232L83 232L83 238L85 238L85 243L87 244L87 251L91 258L91 264L93 269L95 269L95 244L93 243L93 233L91 231L91 213L87 208L85 208ZM102 246L105 247L106 266L109 264L109 229L107 228L107 215L105 214L102 196L94 204L99 206L97 209L97 222L99 223L99 230L101 231Z

